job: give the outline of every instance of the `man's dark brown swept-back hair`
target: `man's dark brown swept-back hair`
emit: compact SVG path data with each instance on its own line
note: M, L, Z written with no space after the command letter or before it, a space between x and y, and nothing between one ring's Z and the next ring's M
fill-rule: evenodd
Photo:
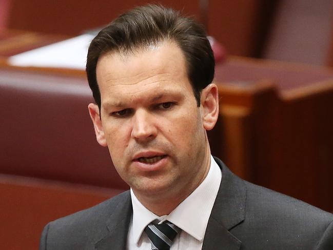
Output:
M178 11L160 5L145 5L117 17L90 43L86 72L99 108L101 93L96 80L99 57L111 51L126 53L147 49L150 45L163 41L174 41L183 51L188 78L200 106L201 91L212 82L215 66L204 28Z

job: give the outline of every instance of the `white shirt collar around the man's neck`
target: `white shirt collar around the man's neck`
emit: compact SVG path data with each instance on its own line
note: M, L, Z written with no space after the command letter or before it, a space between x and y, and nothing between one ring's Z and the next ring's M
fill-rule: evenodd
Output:
M138 244L145 227L156 219L161 222L168 220L195 239L203 241L221 179L221 169L211 156L209 171L204 181L169 215L161 217L142 205L131 189L133 206L132 233L136 244Z

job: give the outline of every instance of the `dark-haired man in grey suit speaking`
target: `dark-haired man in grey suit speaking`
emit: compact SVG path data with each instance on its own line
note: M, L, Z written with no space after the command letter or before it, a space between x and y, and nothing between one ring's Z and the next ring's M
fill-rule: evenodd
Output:
M333 215L211 157L218 88L200 25L133 9L91 42L86 70L97 142L131 190L49 223L40 249L333 249Z

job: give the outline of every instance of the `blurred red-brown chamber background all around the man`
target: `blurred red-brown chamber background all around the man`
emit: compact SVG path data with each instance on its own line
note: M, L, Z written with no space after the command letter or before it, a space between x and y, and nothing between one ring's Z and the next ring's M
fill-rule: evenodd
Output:
M220 92L213 155L248 181L333 211L333 1L0 0L4 249L36 249L47 222L128 188L95 142L84 66L96 30L146 3L207 30Z

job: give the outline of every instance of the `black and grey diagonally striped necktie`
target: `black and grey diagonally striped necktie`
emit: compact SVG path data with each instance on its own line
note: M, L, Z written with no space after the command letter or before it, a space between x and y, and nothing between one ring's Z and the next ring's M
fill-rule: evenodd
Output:
M169 250L181 229L169 221L164 221L161 224L153 221L146 226L145 232L150 240L152 250Z

